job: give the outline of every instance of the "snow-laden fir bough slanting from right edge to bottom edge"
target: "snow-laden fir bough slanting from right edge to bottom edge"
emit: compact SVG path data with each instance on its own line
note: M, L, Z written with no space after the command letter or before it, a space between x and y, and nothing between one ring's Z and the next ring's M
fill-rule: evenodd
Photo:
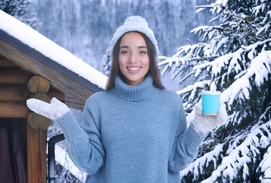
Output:
M224 157L221 165L212 173L210 179L217 179L219 172L222 172L223 177L229 177L229 180L236 178L236 172L243 172L243 181L247 180L250 174L249 163L255 162L260 156L260 149L265 149L270 146L270 126L271 121L260 125L252 132L246 135L244 141L234 149L227 151L228 156ZM237 139L239 141L239 139ZM236 142L234 142L236 143Z

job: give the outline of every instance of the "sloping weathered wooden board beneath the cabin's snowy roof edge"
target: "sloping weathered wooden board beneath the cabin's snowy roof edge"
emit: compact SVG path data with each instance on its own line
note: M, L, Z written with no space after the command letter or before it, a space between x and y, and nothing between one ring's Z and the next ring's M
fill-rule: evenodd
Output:
M20 63L21 67L25 68L25 70L30 70L31 72L40 74L42 77L50 80L50 83L54 87L65 89L68 93L73 94L83 102L85 102L88 97L94 93L78 82L74 82L72 78L62 75L60 72L54 70L54 68L44 65L44 63L37 61L35 58L23 53L23 51L16 49L1 39L0 48L0 54L4 55L6 58L15 63Z

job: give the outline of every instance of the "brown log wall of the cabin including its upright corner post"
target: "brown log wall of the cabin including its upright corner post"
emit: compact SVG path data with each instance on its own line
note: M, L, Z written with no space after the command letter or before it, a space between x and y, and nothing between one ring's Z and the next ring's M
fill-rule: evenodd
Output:
M28 182L47 182L47 128L51 120L37 115L26 106L30 98L49 101L49 95L64 101L65 96L50 89L49 81L21 70L8 58L0 57L0 118L27 118ZM22 120L23 122L24 120ZM1 147L0 147L1 148Z

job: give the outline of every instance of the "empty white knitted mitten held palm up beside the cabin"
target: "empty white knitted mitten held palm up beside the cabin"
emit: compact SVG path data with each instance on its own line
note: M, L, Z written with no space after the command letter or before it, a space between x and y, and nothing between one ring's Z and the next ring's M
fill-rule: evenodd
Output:
M38 99L28 99L26 104L31 111L34 111L40 115L44 115L51 120L61 118L62 115L70 111L68 106L56 98L53 98L51 103L40 101Z

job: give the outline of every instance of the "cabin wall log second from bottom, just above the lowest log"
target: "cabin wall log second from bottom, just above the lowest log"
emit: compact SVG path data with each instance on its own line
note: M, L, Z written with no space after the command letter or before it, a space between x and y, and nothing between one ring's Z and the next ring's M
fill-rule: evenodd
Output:
M0 101L26 101L30 94L26 84L0 84Z

